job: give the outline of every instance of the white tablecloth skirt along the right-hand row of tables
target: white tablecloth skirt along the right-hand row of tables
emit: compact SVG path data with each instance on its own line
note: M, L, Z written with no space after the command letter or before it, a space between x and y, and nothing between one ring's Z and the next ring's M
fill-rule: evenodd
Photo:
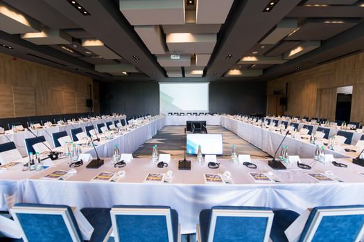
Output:
M236 133L236 135L265 151L270 156L275 155L275 151L277 151L279 144L284 138L284 134L282 135L279 132L270 131L270 129L226 116L222 116L221 126ZM316 149L316 146L311 144L309 140L292 138L290 136L286 137L282 145L288 147L289 155L300 156L300 158L313 158ZM325 149L325 152L326 154L332 154L335 158L354 158L358 156L356 152L338 152L330 149Z

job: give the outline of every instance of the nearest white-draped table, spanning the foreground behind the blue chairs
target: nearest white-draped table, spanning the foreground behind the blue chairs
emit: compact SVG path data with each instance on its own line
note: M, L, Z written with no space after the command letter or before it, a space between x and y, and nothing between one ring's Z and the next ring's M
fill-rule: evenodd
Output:
M21 201L26 203L64 204L79 209L113 205L171 206L178 212L182 234L196 232L200 211L215 205L264 206L301 213L315 206L364 203L364 167L347 159L336 160L346 164L347 168L302 159L313 168L305 170L293 165L281 171L272 170L267 160L252 160L257 169L235 165L223 158L218 158L218 169L209 169L205 162L197 165L195 157L189 160L192 162L191 171L178 170L177 159L172 159L168 167L162 169L150 165L148 158L135 158L120 169L114 168L106 159L105 165L98 169L87 169L85 165L77 167L77 174L67 180L44 180L44 176L53 171L69 170L68 165L62 163L44 171L31 171L32 176L19 180L17 184L23 192ZM125 171L125 176L117 182L91 181L101 172L121 170ZM166 174L169 170L173 171L170 183L145 182L148 173ZM223 174L225 171L232 175L231 184L205 183L204 174ZM254 182L250 172L271 172L274 181ZM330 174L327 176L331 180L319 182L307 173Z

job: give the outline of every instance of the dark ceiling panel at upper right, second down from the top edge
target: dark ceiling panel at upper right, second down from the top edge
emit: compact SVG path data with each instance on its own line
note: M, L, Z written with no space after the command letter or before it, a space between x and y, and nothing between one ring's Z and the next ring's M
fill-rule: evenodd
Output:
M324 40L343 32L360 19L307 19L298 30L286 37L286 40Z

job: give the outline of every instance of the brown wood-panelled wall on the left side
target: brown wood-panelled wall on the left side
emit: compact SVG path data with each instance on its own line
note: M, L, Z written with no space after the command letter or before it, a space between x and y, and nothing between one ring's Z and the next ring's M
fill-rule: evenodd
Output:
M89 85L92 78L0 54L0 118L87 112Z

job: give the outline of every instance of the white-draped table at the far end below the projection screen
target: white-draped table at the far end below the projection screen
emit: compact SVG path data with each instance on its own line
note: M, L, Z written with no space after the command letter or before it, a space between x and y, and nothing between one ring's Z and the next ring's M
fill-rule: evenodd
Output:
M221 116L220 115L168 115L166 116L166 125L186 125L187 121L206 121L207 125L220 126Z

